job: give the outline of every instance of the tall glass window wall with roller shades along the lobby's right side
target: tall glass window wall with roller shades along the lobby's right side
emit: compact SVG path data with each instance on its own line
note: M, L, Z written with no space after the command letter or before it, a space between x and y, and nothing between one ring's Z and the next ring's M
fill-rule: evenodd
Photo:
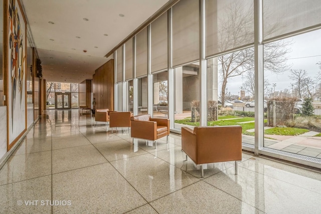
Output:
M204 12L200 3L205 4ZM180 1L126 42L130 48L132 42L133 47L125 51L126 56L132 52L132 62L128 59L126 63L126 59L124 63L129 73L133 71L133 84L128 83L127 89L129 110L132 90L137 96L132 99L133 109L136 107L138 114L174 120L171 130L199 126L203 119L200 109L207 109L208 126L242 126L244 149L277 157L288 152L320 158L320 141L307 145L304 133L315 134L312 137L321 133L321 58L317 52L321 44L321 3L258 3ZM200 16L200 12L204 14ZM200 17L205 17L204 23L200 23ZM204 33L200 26L205 27ZM204 52L207 66L200 67L198 61ZM121 66L118 55L117 51L117 65ZM207 84L204 91L201 76ZM122 87L117 88L118 95L122 94ZM205 93L207 102L202 103L207 106L200 106L200 95ZM122 102L118 98L118 109ZM290 110L285 112L285 107ZM277 108L286 116L286 123L277 122ZM301 124L312 118L314 125ZM293 136L302 137L302 142L294 140L289 146L286 139Z

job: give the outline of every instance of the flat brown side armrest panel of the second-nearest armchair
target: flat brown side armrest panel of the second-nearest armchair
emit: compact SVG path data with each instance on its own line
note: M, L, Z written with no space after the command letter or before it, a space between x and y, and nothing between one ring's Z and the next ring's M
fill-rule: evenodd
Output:
M146 140L157 139L157 123L154 121L131 121L131 137Z

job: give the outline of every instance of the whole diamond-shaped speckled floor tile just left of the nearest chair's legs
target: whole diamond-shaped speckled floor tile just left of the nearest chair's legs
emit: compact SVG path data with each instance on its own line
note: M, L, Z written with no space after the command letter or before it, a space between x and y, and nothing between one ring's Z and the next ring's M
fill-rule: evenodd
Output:
M147 201L165 196L199 180L151 154L116 160L111 164Z

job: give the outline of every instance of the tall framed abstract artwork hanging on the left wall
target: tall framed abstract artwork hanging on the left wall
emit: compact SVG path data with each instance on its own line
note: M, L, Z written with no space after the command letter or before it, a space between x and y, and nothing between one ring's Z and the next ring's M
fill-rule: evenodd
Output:
M18 0L8 3L8 150L26 131L26 21Z

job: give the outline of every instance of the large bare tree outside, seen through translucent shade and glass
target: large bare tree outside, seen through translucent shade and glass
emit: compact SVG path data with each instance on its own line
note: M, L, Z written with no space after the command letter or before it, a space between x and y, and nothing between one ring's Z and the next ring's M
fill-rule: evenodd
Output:
M225 12L225 19L220 20L219 40L222 51L238 47L240 44L249 44L253 41L253 6L244 10L239 1L230 4ZM266 34L279 28L278 25L269 26ZM252 29L252 30L250 30ZM252 32L251 32L252 31ZM232 44L233 43L233 44ZM291 42L282 40L264 45L264 69L273 73L282 73L289 69L286 65L286 54L290 52L288 45ZM254 48L235 51L218 57L218 64L222 77L222 102L225 101L226 86L232 77L254 71Z

